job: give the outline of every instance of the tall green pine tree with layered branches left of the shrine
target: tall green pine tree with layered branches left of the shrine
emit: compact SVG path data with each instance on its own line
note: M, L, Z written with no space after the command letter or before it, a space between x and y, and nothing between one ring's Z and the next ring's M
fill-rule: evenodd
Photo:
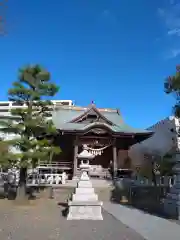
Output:
M47 100L58 92L56 84L51 83L48 71L40 65L27 66L19 70L19 78L9 89L9 100L15 107L11 118L0 122L1 131L15 137L7 143L19 152L13 152L13 158L20 167L20 188L24 188L27 168L35 167L39 160L49 161L50 156L60 152L53 145L56 128L52 122L52 102ZM51 138L47 137L51 136Z

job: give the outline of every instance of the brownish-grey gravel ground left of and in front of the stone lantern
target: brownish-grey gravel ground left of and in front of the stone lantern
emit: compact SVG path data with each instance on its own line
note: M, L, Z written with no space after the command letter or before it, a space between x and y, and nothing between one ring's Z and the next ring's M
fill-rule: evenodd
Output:
M67 221L62 216L68 191L58 192L54 200L41 198L30 204L0 200L1 240L143 240L107 212L103 221ZM59 197L61 196L61 197Z

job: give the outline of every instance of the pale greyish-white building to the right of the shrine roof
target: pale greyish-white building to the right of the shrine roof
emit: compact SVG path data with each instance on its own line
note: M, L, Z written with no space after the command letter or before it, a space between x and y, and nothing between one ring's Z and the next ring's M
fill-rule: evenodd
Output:
M177 134L179 126L179 119L170 116L147 128L147 130L154 131L153 136L129 149L128 155L133 165L139 166L145 163L147 154L163 157L177 144L179 145Z

